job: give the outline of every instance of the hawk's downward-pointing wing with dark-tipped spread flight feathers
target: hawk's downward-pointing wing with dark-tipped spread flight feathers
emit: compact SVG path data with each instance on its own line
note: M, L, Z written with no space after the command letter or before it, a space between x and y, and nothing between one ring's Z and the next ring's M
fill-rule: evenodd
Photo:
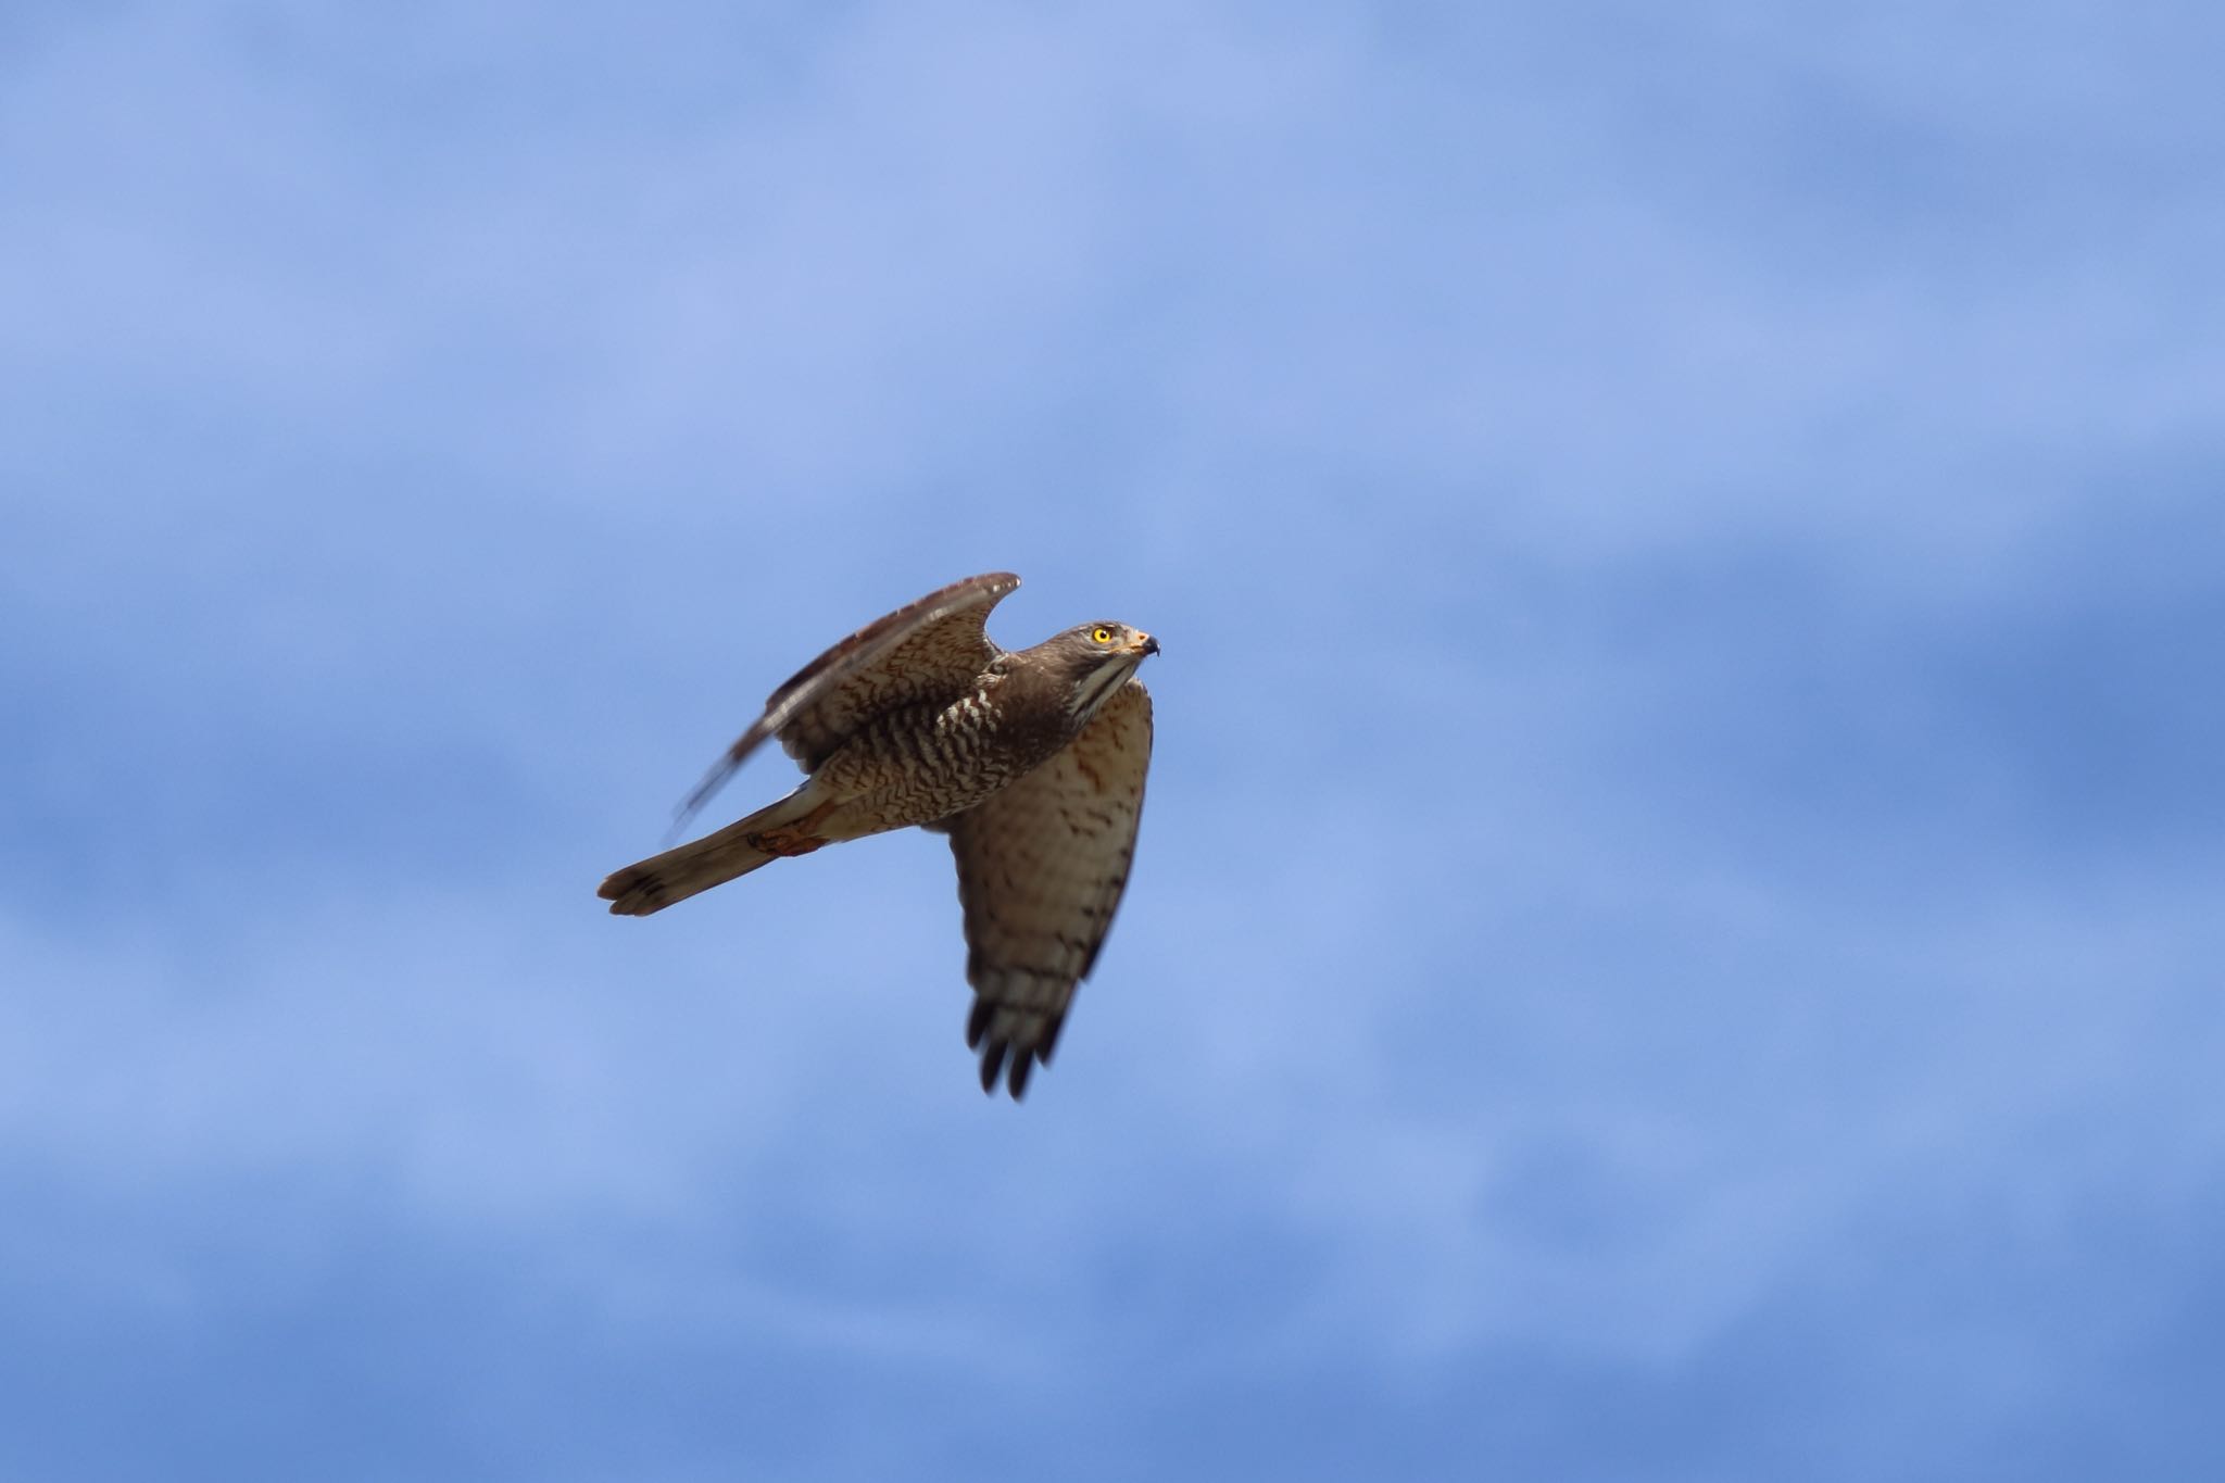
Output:
M1128 680L1064 752L946 820L966 907L966 1043L981 1089L1017 1098L1050 1063L1066 1005L1128 887L1150 767L1150 694Z

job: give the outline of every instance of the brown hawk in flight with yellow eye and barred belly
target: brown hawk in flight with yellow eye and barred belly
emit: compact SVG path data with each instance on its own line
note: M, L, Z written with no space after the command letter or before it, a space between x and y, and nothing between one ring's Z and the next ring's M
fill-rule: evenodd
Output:
M1017 1098L1048 1063L1128 885L1159 643L1086 623L1006 651L988 609L1010 571L952 583L866 625L772 691L765 714L688 796L685 820L768 738L803 787L714 834L627 865L601 896L647 916L781 856L886 829L950 836L966 909L966 1043L981 1089Z

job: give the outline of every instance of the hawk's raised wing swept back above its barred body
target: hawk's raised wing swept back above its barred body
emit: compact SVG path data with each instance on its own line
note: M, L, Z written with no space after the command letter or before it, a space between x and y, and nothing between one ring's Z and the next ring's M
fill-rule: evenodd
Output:
M768 736L812 772L872 714L923 700L957 700L999 649L988 609L1019 587L1010 571L950 583L874 618L772 691L765 714L719 758L681 803L674 834L716 794Z

